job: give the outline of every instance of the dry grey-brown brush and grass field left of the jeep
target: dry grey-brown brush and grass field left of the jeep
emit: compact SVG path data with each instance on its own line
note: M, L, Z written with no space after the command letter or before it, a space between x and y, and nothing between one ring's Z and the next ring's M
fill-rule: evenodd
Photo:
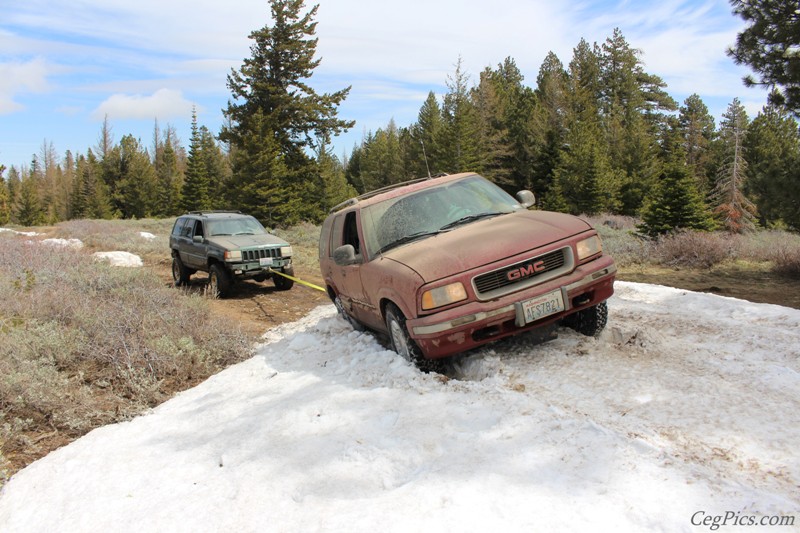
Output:
M158 239L125 226L68 229L96 247L156 255ZM71 439L133 416L252 350L202 297L145 269L93 261L86 249L0 234L0 301L0 481L46 453L43 433Z

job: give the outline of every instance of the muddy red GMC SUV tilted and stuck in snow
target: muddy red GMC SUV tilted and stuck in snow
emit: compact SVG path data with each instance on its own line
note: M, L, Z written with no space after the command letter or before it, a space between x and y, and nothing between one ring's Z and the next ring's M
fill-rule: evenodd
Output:
M614 261L589 224L533 203L530 191L515 199L474 173L352 198L322 225L328 295L355 328L388 334L423 370L557 321L595 335Z

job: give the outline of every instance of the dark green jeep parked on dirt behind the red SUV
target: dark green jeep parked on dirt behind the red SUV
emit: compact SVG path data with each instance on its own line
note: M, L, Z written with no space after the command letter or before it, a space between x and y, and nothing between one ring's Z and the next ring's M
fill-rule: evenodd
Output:
M192 211L178 217L169 237L172 278L185 285L189 277L208 272L211 293L224 297L239 279L272 278L278 290L294 285L292 247L239 211Z

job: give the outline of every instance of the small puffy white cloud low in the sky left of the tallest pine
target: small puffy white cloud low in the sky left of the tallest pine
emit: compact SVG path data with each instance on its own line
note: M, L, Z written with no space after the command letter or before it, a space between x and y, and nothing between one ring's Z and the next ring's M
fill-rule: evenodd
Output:
M191 113L192 105L180 91L173 89L159 89L151 95L114 94L92 111L92 118L102 119L107 116L112 120L124 120L186 117Z

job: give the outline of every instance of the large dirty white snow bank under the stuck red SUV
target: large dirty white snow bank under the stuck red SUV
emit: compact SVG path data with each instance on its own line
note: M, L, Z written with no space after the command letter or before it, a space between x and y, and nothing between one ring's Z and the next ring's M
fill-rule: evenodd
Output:
M518 337L447 379L318 308L18 473L0 529L689 531L797 515L800 311L621 282L610 310L598 339Z

